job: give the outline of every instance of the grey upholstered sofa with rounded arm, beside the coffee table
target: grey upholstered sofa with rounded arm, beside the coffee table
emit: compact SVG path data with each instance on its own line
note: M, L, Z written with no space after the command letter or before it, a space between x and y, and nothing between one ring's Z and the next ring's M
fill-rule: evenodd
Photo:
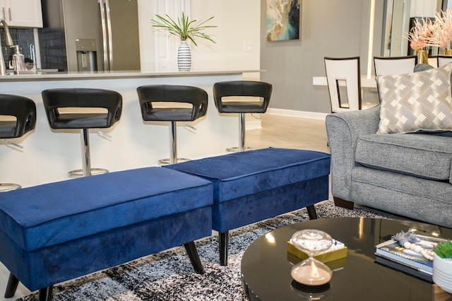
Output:
M326 117L336 205L452 228L451 133L376 134L380 108Z

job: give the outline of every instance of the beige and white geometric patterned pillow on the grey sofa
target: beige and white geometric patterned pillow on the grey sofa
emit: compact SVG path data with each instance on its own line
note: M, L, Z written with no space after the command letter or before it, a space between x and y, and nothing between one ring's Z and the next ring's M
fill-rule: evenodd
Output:
M452 131L452 64L417 73L377 76L377 134Z

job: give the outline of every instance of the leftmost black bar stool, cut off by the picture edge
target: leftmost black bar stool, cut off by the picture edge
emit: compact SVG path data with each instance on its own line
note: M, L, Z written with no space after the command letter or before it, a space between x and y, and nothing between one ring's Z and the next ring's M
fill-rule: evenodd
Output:
M35 129L36 105L29 98L0 94L0 115L6 117L6 119L0 120L0 138L20 138ZM11 117L15 117L15 120ZM6 143L22 148L22 146L10 141L6 141ZM21 187L20 184L1 183L0 191L11 191Z

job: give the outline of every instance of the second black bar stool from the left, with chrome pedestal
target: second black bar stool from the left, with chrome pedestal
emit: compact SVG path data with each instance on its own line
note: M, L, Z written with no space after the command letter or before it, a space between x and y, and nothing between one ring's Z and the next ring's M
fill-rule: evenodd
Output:
M42 100L52 129L81 130L83 168L68 172L68 177L87 177L108 172L102 168L91 168L88 129L106 129L119 121L122 112L121 94L103 89L58 88L42 91ZM99 112L96 109L105 110Z

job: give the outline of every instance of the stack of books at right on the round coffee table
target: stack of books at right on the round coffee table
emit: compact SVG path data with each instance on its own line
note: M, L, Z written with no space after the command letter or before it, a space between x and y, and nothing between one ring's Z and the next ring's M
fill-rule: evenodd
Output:
M417 235L420 239L421 247L424 249L432 249L439 242L444 242L444 239L438 237L429 237L424 235ZM375 261L378 264L389 266L403 273L408 273L424 281L432 281L433 261L427 260L422 254L413 251L412 249L405 249L394 240L388 240L377 244L375 246Z

